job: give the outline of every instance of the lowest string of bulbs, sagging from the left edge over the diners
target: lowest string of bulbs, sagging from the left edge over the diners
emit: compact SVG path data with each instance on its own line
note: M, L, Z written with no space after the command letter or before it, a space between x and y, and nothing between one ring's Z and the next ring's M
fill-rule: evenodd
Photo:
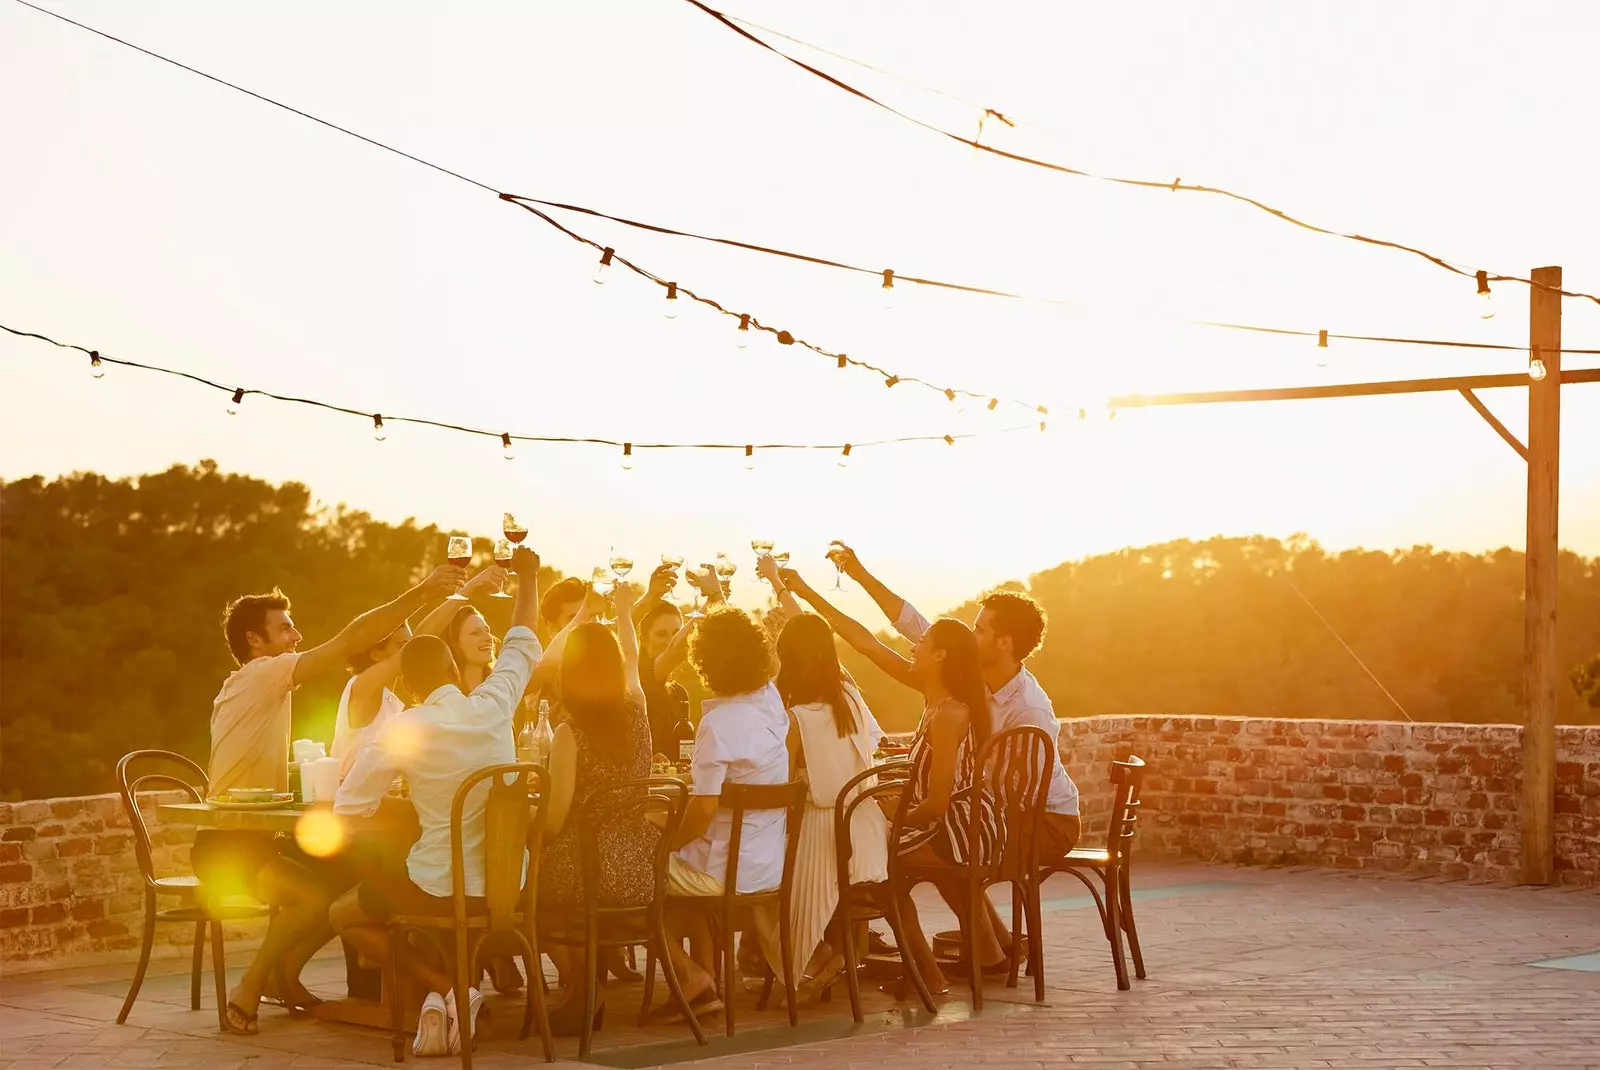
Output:
M107 357L98 349L85 349L83 345L75 345L72 342L59 342L46 334L37 334L34 331L19 331L13 326L0 323L0 331L14 334L16 337L30 337L40 342L48 342L59 349L72 349L90 358L90 366L94 376L104 374L106 365L117 365L122 368L138 368L141 371L154 371L163 376L174 376L178 379L187 379L189 382L197 382L203 387L211 387L213 390L221 390L229 395L229 408L235 409L246 397L264 397L274 401L285 401L290 405L309 405L312 408L326 409L330 413L342 413L346 416L358 416L363 422L371 424L373 437L382 441L386 430L392 424L416 424L421 427L437 427L440 430L461 432L464 435L477 435L480 438L490 438L498 441L504 449L510 449L514 441L533 441L533 443L573 443L587 446L613 446L622 449L624 459L629 459L638 449L738 449L746 457L750 457L757 449L821 449L829 453L838 453L842 457L850 457L853 449L866 449L869 446L890 446L902 443L933 443L942 441L954 446L957 441L966 438L987 438L992 435L1013 435L1018 432L1042 432L1046 430L1045 421L1016 424L1011 427L995 427L989 430L974 430L958 435L899 435L894 438L869 438L850 443L797 443L797 441L629 441L622 438L598 438L598 437L568 437L568 435L525 435L509 430L491 430L488 427L469 427L464 424L451 424L448 421L429 419L424 416L390 416L387 413L368 413L365 409L350 408L347 405L336 405L331 401L320 401L317 398L302 398L291 393L275 393L272 390L259 390L253 387L227 385L226 382L218 382L216 379L206 379L205 376L197 376L192 371L182 371L179 368L163 368L160 365L147 365L138 360L125 360L120 357Z

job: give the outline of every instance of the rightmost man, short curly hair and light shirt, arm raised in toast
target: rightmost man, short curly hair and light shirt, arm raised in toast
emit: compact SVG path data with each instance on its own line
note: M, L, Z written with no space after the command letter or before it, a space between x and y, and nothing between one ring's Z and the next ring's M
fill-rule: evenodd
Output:
M872 601L890 619L896 632L912 643L922 638L923 632L928 630L928 619L917 611L917 606L885 587L862 566L861 558L850 547L843 547L838 563L846 576L872 595ZM1056 725L1056 709L1038 680L1022 664L1045 638L1045 613L1037 601L1021 592L997 590L981 600L978 619L973 622L973 635L978 638L984 683L994 699L994 731L1034 726L1050 734L1054 769L1040 822L1038 856L1042 859L1061 857L1077 846L1082 828L1078 785L1067 776L1067 768L1061 761L1058 745L1061 729ZM989 908L990 926L1003 942L1005 923L1000 921L998 912L987 897L984 904Z

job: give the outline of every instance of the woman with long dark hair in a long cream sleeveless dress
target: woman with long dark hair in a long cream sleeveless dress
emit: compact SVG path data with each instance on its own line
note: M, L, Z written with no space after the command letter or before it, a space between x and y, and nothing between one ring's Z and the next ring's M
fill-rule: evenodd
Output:
M794 961L808 974L810 988L821 988L843 968L842 955L822 939L838 907L834 811L850 801L840 797L845 784L872 768L883 729L856 686L845 680L834 629L822 617L810 613L790 617L778 637L778 694L798 734L797 758L810 781L789 931ZM867 781L866 787L872 784ZM850 883L888 880L888 824L880 808L864 804L851 814L850 849Z

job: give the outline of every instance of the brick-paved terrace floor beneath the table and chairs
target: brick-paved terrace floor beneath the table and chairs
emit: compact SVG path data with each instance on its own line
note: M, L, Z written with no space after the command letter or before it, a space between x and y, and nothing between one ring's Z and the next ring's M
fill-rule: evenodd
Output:
M1136 884L1150 979L1117 992L1080 888L1046 889L1046 1003L990 984L973 1016L957 987L933 1024L875 995L803 1008L802 1028L739 1004L730 1046L682 1028L634 1030L638 987L614 992L594 1060L643 1067L1600 1067L1600 972L1534 968L1600 950L1600 892L1325 870L1146 865ZM938 912L928 908L933 923ZM237 952L237 966L245 953ZM1584 963L1587 960L1574 960ZM264 1008L261 1035L224 1038L210 1001L187 1009L181 963L157 963L128 1025L114 1024L130 966L0 979L0 1070L195 1067L338 1070L389 1064L376 1033ZM176 971L176 972L174 972ZM341 960L309 979L338 992ZM501 1022L518 1022L506 1006ZM573 1059L576 1044L557 1054ZM542 1062L491 1035L475 1065ZM456 1065L432 1060L424 1065Z

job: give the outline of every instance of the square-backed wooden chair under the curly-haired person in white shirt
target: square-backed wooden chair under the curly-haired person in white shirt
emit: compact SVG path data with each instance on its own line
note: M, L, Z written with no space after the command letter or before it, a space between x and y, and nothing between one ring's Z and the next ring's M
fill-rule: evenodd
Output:
M800 1024L800 1011L795 1004L795 969L794 947L789 939L789 902L794 886L795 854L800 849L800 822L805 816L805 800L810 789L805 781L789 784L725 784L722 789L723 809L731 811L731 832L728 835L728 873L723 878L722 896L667 896L667 902L680 910L702 910L712 915L717 939L717 953L723 979L723 1016L726 1019L728 1036L733 1036L733 1003L734 1003L734 932L754 920L757 908L778 910L778 944L784 987L789 1000L789 1025ZM744 814L763 809L787 811L784 827L784 875L778 888L760 892L739 892L739 843L744 833ZM646 961L646 969L651 966ZM773 968L766 964L766 987L762 992L758 1008L765 1009L773 990Z

